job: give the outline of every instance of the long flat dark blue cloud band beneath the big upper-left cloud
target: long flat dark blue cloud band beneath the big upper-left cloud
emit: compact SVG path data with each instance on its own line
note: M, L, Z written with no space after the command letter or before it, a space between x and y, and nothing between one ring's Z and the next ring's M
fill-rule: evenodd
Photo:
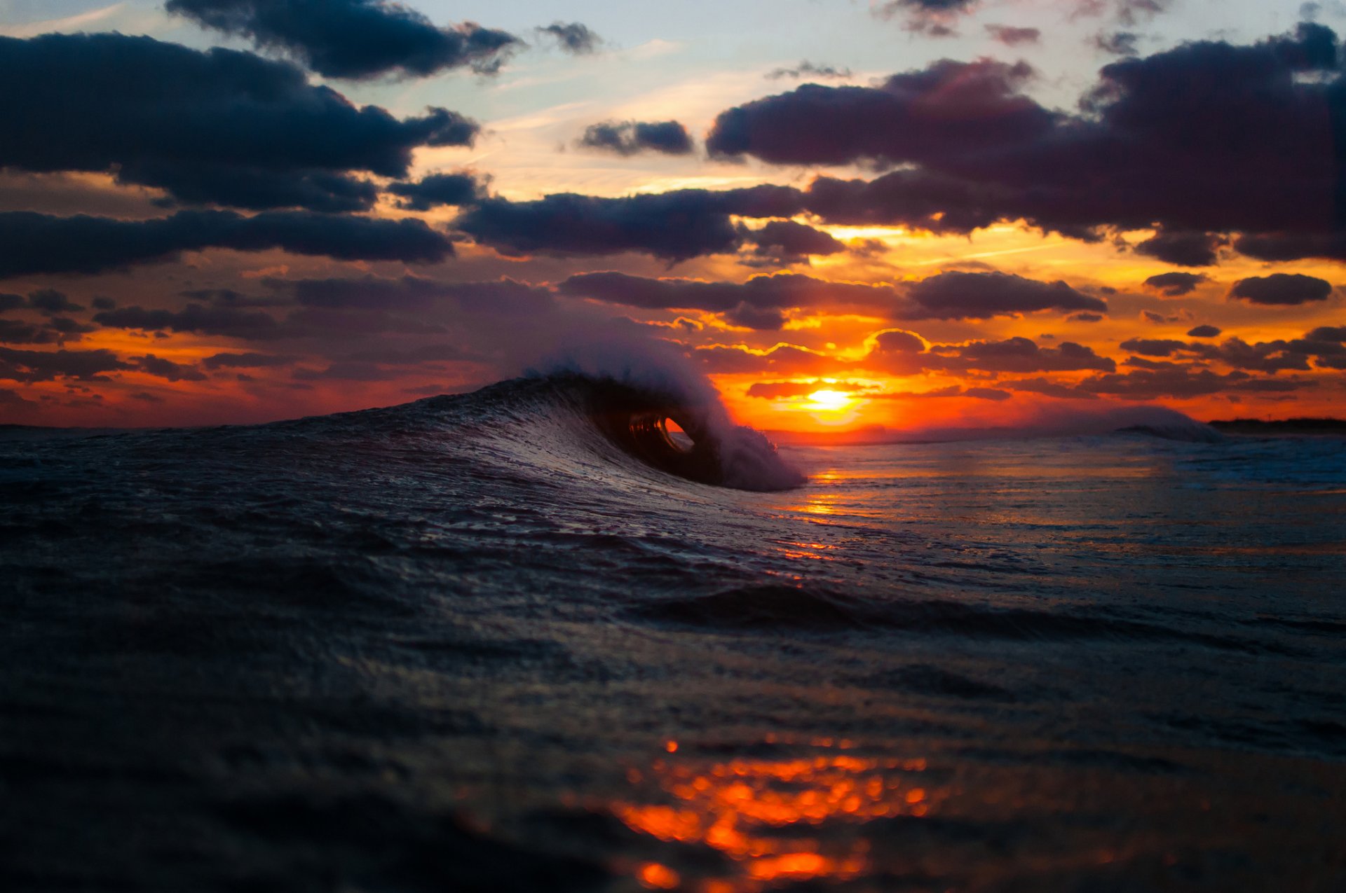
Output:
M452 242L416 219L386 221L304 211L242 217L232 211L179 211L148 221L0 212L0 277L28 273L100 273L163 261L180 251L226 247L283 249L338 260L439 262Z

